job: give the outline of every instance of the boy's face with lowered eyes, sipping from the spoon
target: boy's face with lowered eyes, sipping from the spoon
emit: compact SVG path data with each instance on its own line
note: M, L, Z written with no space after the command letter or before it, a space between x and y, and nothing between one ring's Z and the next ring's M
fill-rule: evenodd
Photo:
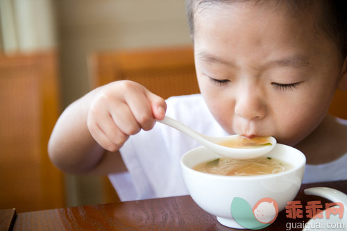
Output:
M206 5L195 15L201 93L230 134L295 145L319 125L339 80L335 44L280 6Z

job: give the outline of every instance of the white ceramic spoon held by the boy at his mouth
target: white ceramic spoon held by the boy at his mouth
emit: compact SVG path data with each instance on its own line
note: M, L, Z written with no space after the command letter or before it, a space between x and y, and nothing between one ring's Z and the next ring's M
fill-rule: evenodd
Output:
M170 117L164 117L164 119L162 119L161 121L158 120L158 122L164 123L172 128L176 128L180 132L189 135L189 137L192 137L197 142L199 142L206 148L209 148L211 151L218 153L219 155L235 159L252 159L255 157L260 157L266 153L269 153L269 151L271 151L272 148L276 145L276 139L273 137L269 137L269 143L271 143L271 145L259 146L254 148L230 148L228 146L220 145L221 142L236 139L237 137L239 137L239 135L230 135L226 137L210 137L196 132L195 130L192 130L192 128L188 128L183 123L180 123L175 119L171 119Z

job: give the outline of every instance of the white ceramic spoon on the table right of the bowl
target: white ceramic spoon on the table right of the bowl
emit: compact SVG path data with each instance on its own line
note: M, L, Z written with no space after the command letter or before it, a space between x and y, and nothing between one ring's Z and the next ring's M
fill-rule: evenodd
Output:
M326 216L326 209L323 211L323 218L310 219L305 224L303 230L347 230L347 195L337 189L331 189L326 187L314 187L305 189L306 195L321 196L327 198L332 202L339 202L344 205L343 218L339 218L339 214L330 214L330 217ZM323 205L324 206L324 205Z

